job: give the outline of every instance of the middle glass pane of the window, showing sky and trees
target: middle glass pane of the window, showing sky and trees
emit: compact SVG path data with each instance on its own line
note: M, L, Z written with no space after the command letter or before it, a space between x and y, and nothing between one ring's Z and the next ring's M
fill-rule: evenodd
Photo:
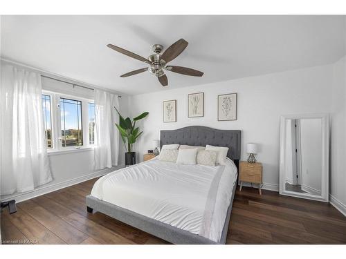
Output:
M62 146L82 146L82 102L60 98Z

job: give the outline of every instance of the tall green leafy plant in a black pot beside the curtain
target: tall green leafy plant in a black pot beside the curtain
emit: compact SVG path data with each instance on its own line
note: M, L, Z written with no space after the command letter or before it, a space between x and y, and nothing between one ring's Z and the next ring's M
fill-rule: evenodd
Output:
M116 109L116 107L114 107ZM139 132L139 127L136 127L136 122L140 119L147 117L148 112L142 113L137 117L134 117L131 120L129 117L124 119L119 111L116 109L119 114L119 124L116 124L120 132L120 136L125 145L125 165L129 166L132 164L136 164L136 152L133 151L133 144L136 142L137 138L143 133L143 131Z

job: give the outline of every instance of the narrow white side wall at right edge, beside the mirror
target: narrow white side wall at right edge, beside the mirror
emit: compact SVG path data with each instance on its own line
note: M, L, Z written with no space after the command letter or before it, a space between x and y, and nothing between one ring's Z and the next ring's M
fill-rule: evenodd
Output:
M331 84L331 201L346 215L346 57L333 66Z

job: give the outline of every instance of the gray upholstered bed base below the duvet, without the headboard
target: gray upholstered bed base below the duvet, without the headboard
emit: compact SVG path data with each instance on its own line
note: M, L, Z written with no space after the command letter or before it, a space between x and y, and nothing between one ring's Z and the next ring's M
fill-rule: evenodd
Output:
M158 220L153 220L152 218L140 215L134 211L123 209L109 202L99 200L98 198L95 198L91 195L86 196L86 209L89 213L92 213L93 210L95 210L99 211L100 213L109 215L111 218L115 218L116 220L129 224L132 227L171 242L172 244L226 244L228 224L230 222L230 212L232 211L236 187L237 184L235 183L233 186L230 205L228 206L227 210L224 228L222 229L222 234L219 242L215 242L208 238L204 238L203 236L199 236L189 231L173 227L170 224L166 224Z

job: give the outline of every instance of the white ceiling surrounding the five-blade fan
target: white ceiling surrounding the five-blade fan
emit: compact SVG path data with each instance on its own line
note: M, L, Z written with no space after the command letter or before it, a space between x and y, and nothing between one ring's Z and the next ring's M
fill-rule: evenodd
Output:
M163 88L146 65L110 48L151 55L178 39L188 48L170 62L204 72L167 71ZM345 16L2 16L1 57L134 95L329 64L346 55Z

